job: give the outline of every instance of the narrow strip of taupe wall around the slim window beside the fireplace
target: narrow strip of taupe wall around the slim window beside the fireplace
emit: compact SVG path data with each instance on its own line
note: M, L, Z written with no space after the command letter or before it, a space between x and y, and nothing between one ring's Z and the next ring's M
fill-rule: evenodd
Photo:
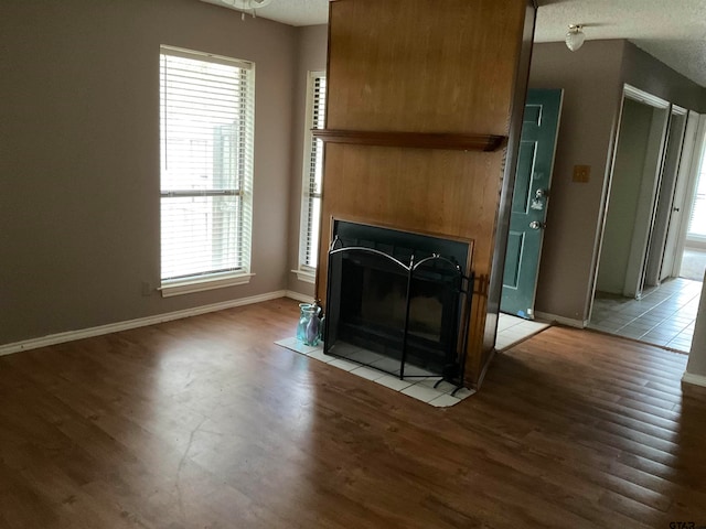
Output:
M307 78L309 72L327 69L328 26L299 28L298 61L295 73L293 128L291 136L291 194L289 197L289 290L313 298L313 283L299 281L291 270L299 267L299 218L301 214L301 184L303 169L304 129L307 123Z

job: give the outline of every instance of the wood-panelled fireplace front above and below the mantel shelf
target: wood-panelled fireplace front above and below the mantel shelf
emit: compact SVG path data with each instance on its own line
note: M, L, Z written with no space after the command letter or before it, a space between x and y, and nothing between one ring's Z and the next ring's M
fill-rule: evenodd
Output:
M327 129L510 133L526 0L335 0ZM524 84L521 84L524 87ZM524 88L523 88L524 89ZM516 153L327 143L317 296L333 218L473 241L466 381L477 386L505 159ZM492 348L492 344L490 345Z

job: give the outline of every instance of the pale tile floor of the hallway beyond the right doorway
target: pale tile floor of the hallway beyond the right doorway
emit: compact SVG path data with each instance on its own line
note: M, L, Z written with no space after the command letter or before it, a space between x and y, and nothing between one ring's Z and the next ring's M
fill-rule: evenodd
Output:
M702 283L676 278L641 300L598 292L589 328L688 353Z

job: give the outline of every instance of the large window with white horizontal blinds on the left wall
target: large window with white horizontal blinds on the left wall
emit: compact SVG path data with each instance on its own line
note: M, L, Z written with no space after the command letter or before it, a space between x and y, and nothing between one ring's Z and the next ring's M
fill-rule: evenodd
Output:
M249 279L254 65L161 47L162 294Z

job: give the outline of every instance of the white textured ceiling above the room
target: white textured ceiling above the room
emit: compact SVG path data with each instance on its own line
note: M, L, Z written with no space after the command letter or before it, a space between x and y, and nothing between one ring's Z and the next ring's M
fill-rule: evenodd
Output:
M228 0L203 0L223 4ZM379 0L384 1L384 0ZM584 24L587 41L628 39L706 87L706 0L538 0L535 42L563 41ZM290 25L325 24L329 0L271 0L258 17Z

